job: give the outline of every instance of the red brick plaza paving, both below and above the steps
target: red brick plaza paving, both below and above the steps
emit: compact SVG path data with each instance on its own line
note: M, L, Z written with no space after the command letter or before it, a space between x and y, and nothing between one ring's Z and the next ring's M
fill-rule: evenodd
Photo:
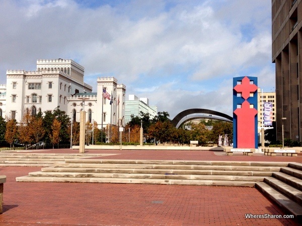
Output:
M78 153L70 149L44 153ZM41 153L41 152L39 152ZM298 157L234 155L213 151L112 151L103 159L302 162ZM41 167L0 167L7 176L0 225L298 225L256 188L224 186L16 182Z

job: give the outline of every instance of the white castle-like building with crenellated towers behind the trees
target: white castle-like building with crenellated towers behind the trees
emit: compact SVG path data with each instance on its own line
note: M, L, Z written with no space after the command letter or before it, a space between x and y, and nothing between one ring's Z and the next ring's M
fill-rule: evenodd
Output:
M126 86L114 77L98 78L97 83L97 92L92 92L84 83L84 67L72 60L37 60L37 71L7 71L7 84L0 85L0 116L21 122L26 113L59 106L73 121L80 121L84 108L86 121L96 121L99 128L124 125ZM103 89L112 104L103 98Z

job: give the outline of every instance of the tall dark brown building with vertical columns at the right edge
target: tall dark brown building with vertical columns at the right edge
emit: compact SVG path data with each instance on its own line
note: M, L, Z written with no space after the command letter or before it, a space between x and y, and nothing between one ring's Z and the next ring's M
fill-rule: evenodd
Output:
M272 0L272 62L276 67L277 139L301 140L302 0Z

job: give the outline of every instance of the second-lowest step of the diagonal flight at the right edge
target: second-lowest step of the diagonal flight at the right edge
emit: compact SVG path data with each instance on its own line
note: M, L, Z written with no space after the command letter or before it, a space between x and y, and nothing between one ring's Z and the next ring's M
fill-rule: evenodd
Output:
M278 190L279 192L285 194L291 200L302 204L302 191L278 180L274 177L265 177L264 182L273 187L274 189Z

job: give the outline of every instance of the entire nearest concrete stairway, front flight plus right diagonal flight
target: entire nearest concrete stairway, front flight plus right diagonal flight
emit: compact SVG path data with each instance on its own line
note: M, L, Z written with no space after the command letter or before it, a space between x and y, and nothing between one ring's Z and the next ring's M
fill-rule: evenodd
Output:
M86 159L83 159L85 158ZM298 221L302 218L302 164L288 162L101 160L66 158L23 182L141 183L256 187Z

